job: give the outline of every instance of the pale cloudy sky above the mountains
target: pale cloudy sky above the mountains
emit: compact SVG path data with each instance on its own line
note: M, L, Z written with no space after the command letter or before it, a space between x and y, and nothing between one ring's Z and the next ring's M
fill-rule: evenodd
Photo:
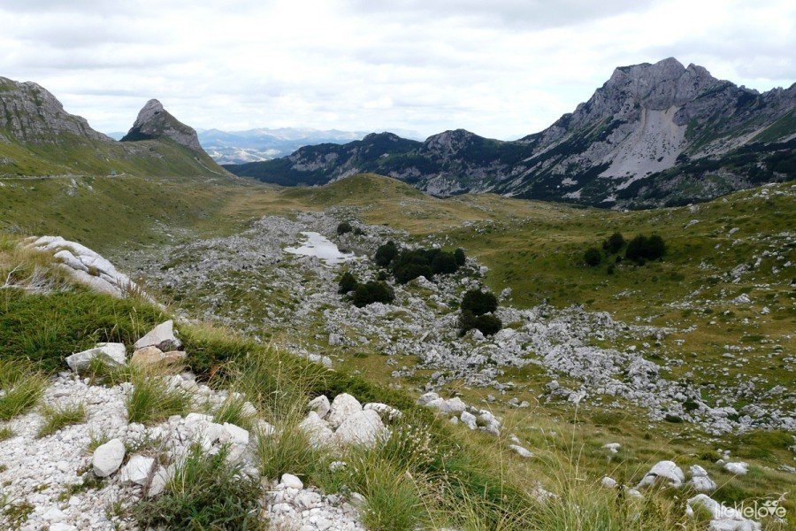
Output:
M103 132L150 98L195 128L512 139L616 66L675 57L758 90L796 81L792 0L0 0L0 76Z

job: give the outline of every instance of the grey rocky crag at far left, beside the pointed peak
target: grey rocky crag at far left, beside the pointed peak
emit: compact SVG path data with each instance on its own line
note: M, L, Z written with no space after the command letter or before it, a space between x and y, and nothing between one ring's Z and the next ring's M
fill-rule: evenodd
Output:
M20 142L57 142L64 134L109 140L86 119L65 112L64 105L41 85L4 77L0 77L0 129Z

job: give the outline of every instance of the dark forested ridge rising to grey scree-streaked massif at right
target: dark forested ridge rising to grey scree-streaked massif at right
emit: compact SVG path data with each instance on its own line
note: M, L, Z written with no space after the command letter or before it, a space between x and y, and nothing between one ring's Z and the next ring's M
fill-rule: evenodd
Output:
M496 192L600 206L685 204L796 176L796 84L764 93L674 58L616 68L544 131L501 142L457 129L390 133L226 166L283 185L382 173L438 196Z

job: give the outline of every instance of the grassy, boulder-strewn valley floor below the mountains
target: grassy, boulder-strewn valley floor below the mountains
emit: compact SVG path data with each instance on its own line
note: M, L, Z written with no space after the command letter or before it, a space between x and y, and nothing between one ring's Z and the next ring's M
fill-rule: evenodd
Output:
M330 521L340 512L334 512L330 500L336 498L328 494L355 499L341 487L346 484L366 499L361 509L344 513L346 521L364 521L371 529L408 530L419 523L547 530L570 528L572 518L586 522L582 528L600 522L634 528L640 518L644 528L696 530L706 528L710 518L701 512L685 517L685 504L708 482L698 478L709 477L715 486L708 485L708 495L729 506L784 495L779 503L785 521L763 518L762 523L777 530L793 524L792 184L642 212L494 194L443 199L374 174L288 189L220 178L2 184L5 234L59 234L96 246L119 271L169 304L163 310L138 299L114 301L85 289L59 288L58 280L42 284L52 292L0 289L0 361L24 356L41 360L44 370L61 370L70 352L102 341L122 342L132 351L150 327L174 318L198 388L215 389L203 391L212 400L221 400L224 395L215 393L227 389L244 393L258 419L279 430L298 422L280 412L295 408L305 415L306 401L320 395L332 400L348 393L360 405L385 403L403 412L406 424L385 417L385 425L420 447L391 438L377 450L347 453L342 460L362 464L348 472L330 472L329 463L340 456L310 450L300 437L256 450L257 473L273 480L275 491L286 489L284 478L277 482L282 473L297 474L309 489L297 494L316 500L313 507ZM172 200L164 202L163 196ZM108 209L97 209L98 204ZM355 230L338 235L342 221ZM603 251L599 266L586 266L585 250L600 248L617 230L627 239L662 235L666 254L640 265L617 260L624 251ZM306 231L357 258L329 266L293 254ZM0 279L40 282L50 258L18 253L19 237L4 236ZM379 278L385 272L372 257L387 240L409 248L461 247L467 263L431 281L401 284L387 273L394 301L358 308L338 293L341 273L363 282ZM8 276L20 260L24 266ZM30 275L36 267L40 275ZM504 329L497 335L457 334L463 293L476 286L499 298L495 315ZM263 356L264 366L236 365L249 363L247 352ZM325 368L330 365L332 370ZM256 388L230 379L247 373L256 374ZM57 447L69 463L39 492L35 482L26 486L19 479L17 463L23 461L12 460L0 473L13 489L55 500L62 489L56 481L81 485L71 489L75 505L61 507L70 521L104 522L103 507L90 500L119 492L131 497L112 512L117 521L178 519L187 511L182 503L200 503L179 498L171 483L165 495L146 504L141 492L149 487L125 487L118 474L99 479L87 469L75 476L68 467L90 453L59 443L59 437L91 445L88 431L108 426L112 434L135 441L137 427L119 419L116 409L126 408L126 382L140 376L93 377L104 378L107 389L96 381L54 378L42 403L88 396L88 418L41 439L36 433L43 413L35 408L0 424L15 434L4 442L0 461L4 451L17 451L23 441L32 449ZM294 395L293 388L279 388L280 381L299 382L301 389ZM296 396L296 402L274 404L263 389ZM94 404L96 396L116 409L105 414L98 409L103 404ZM420 396L425 398L414 404ZM187 417L182 416L176 423L145 424L143 433L183 433ZM250 426L240 416L226 419ZM254 438L257 432L250 433ZM143 457L157 455L151 453L157 445L130 443L129 448ZM406 453L411 448L420 453ZM657 487L644 487L650 469L669 460L685 471L687 484L674 487L659 479ZM747 464L748 473L726 466L739 462ZM449 481L457 487L451 489ZM613 489L611 481L624 487ZM210 499L232 503L225 497L230 491L214 489ZM262 517L277 519L270 494L246 492L235 499L249 504L252 496L265 496ZM178 499L181 504L175 504ZM216 506L202 499L207 504L202 506ZM291 507L300 503L279 499ZM450 510L461 504L470 510ZM8 507L9 514L25 511L21 501ZM295 523L301 511L291 514ZM43 512L27 518L41 522Z

